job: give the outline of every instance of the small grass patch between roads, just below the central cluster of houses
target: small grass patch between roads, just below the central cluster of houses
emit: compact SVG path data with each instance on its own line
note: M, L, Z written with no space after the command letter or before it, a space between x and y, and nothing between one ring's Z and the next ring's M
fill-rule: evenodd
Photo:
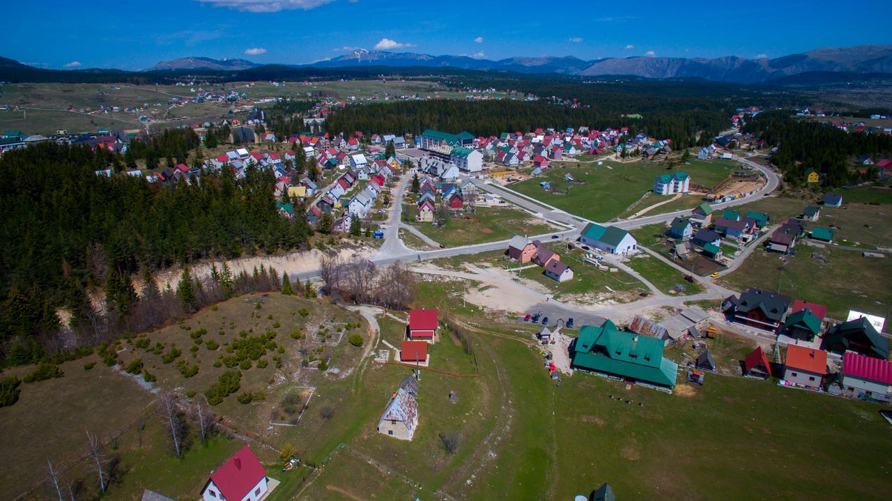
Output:
M404 215L405 215L404 211ZM409 223L446 247L507 240L516 234L544 234L557 229L519 209L478 207L474 214L459 212L445 226Z

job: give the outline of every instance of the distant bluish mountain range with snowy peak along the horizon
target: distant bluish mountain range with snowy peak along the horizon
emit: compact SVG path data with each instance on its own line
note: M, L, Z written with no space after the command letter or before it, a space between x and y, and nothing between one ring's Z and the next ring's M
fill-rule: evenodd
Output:
M186 57L159 62L150 70L244 70L259 64L241 60ZM827 47L774 59L726 56L713 59L681 57L624 57L585 61L574 56L512 57L497 61L467 55L393 53L357 49L333 59L309 65L312 68L359 66L420 66L459 70L497 70L598 77L628 75L641 78L704 78L719 82L753 84L807 72L892 73L892 45Z

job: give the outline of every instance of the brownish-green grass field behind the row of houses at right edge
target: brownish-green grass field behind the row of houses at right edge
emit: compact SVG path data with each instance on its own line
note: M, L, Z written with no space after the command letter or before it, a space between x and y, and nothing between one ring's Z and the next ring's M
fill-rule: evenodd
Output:
M813 259L812 252L827 257L828 264ZM829 316L843 320L849 309L887 316L892 308L892 289L880 278L892 276L892 259L864 258L858 251L815 249L800 243L796 255L785 267L782 264L777 252L757 249L720 282L738 291L758 287L827 305Z

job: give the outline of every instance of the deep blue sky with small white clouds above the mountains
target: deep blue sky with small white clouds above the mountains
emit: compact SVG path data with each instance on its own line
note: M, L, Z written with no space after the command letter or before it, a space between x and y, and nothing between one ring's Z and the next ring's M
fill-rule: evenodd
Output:
M139 70L184 56L307 63L376 46L487 59L598 59L777 57L892 44L892 2L876 0L857 8L827 0L20 0L4 11L14 21L4 25L0 55L45 68Z

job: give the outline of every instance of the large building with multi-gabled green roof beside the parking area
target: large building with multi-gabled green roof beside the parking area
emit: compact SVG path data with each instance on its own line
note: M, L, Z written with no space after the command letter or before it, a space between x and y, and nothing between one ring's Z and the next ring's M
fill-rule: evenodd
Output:
M678 365L663 357L664 341L620 332L606 320L599 327L583 325L570 344L571 366L607 374L627 382L643 382L671 390Z

